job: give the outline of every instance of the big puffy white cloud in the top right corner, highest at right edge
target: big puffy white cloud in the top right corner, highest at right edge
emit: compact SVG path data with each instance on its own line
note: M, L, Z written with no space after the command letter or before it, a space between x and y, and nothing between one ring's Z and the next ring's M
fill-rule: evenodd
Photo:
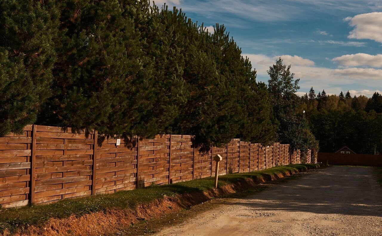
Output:
M346 17L354 29L348 35L349 39L371 39L382 42L382 12L359 14Z

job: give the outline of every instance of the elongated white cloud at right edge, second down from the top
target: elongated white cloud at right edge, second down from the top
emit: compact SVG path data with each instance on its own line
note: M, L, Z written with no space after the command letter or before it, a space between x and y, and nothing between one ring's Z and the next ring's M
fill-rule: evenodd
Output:
M370 55L356 53L333 58L332 61L343 66L372 66L382 67L382 54Z

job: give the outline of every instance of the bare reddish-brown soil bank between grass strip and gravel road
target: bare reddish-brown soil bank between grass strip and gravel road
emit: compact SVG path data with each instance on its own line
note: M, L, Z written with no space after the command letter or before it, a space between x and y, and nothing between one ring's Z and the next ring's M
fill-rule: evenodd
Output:
M235 184L224 185L218 189L211 189L203 193L183 194L176 197L163 197L149 204L139 205L131 209L112 209L105 212L95 212L81 217L72 215L68 218L52 218L39 226L29 226L20 229L13 235L21 236L55 236L55 235L79 235L79 236L99 236L115 233L118 230L134 225L142 220L149 220L154 217L163 216L181 209L189 208L209 199L242 191L259 183L276 180L293 175L292 172L278 173L277 175L267 175L265 178L247 178ZM5 232L3 235L8 235Z

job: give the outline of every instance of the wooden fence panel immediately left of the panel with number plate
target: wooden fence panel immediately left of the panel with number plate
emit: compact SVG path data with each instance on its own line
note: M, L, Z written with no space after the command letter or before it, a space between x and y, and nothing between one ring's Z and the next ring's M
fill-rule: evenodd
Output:
M94 131L36 125L36 177L32 202L91 194ZM32 189L33 191L33 189Z

